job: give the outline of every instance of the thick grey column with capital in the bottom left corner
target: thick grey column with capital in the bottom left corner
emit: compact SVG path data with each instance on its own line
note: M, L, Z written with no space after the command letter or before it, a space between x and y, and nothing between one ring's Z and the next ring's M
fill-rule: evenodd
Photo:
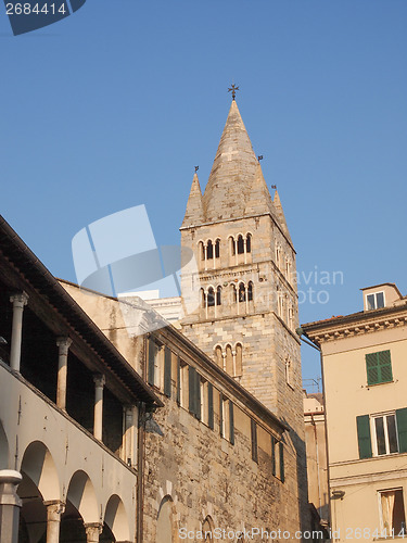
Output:
M18 518L22 501L17 487L23 477L13 469L0 471L0 535L1 543L17 543Z

